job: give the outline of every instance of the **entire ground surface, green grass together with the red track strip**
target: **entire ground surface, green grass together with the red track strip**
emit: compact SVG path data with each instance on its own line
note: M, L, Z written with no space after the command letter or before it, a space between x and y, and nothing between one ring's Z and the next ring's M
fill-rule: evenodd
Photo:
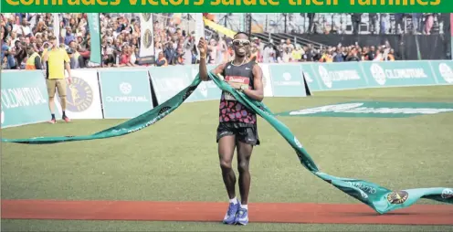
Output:
M450 86L347 90L317 92L308 98L267 98L264 102L274 112L369 100L452 103L451 90ZM3 143L2 227L47 231L87 227L100 231L106 227L83 225L102 223L91 220L146 220L159 221L146 224L148 231L230 229L220 224L227 196L216 153L217 114L216 100L192 102L163 121L126 136L52 145ZM452 185L448 172L453 159L448 155L453 149L448 142L453 130L451 112L402 118L278 118L300 138L321 169L331 174L367 179L390 189ZM3 129L2 135L83 135L121 121L37 123ZM262 145L255 148L250 163L248 227L253 230L452 228L452 207L432 205L428 200L379 216L306 172L290 146L261 119L258 133ZM145 229L140 226L144 222L133 221L115 227ZM43 224L46 226L41 227ZM350 224L353 229L339 224Z

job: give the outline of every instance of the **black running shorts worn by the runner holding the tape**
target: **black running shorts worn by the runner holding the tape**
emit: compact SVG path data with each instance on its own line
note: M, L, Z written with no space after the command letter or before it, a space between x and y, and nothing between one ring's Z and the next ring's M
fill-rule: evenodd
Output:
M236 135L239 142L253 146L259 145L257 124L246 124L241 122L220 122L217 127L218 142L222 137Z

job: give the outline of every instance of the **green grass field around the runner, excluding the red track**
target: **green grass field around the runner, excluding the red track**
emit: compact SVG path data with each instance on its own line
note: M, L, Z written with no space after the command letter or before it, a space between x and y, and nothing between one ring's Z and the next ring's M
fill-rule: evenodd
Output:
M453 86L318 92L269 98L271 111L351 100L453 102ZM127 136L53 145L2 143L2 199L223 201L216 153L218 102L183 104L157 124ZM70 115L69 115L70 116ZM453 186L453 113L401 119L279 117L321 171L390 189ZM2 131L5 138L83 135L118 120L40 123ZM266 121L251 161L253 202L358 203L305 170ZM236 166L236 163L235 163ZM421 200L418 204L437 204ZM221 220L221 218L219 218ZM450 227L384 225L2 220L2 231L453 231Z

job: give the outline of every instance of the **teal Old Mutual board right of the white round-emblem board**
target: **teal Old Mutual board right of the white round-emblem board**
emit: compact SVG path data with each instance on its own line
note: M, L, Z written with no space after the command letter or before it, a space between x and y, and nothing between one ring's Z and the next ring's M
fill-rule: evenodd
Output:
M100 70L105 119L130 119L153 109L148 70Z

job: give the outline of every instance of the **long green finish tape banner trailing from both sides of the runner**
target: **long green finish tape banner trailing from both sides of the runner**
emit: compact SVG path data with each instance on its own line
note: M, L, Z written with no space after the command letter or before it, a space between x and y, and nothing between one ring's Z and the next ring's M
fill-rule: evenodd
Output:
M379 214L385 214L395 209L405 208L411 206L420 198L427 198L439 202L453 204L453 188L437 187L437 188L417 188L406 189L400 191L392 191L380 185L371 182L341 178L330 174L322 173L313 162L311 156L303 148L299 140L294 136L290 129L277 120L274 114L262 103L255 100L250 100L244 93L234 90L227 82L218 79L216 75L209 73L216 86L220 90L231 93L239 102L248 107L251 111L255 111L264 120L268 121L270 125L290 144L290 146L297 153L300 163L307 168L312 174L320 177L327 183L342 190L347 195L353 196L355 199L363 202L367 206L372 207ZM201 83L201 79L197 75L194 81L184 90L179 91L174 97L164 101L160 106L151 111L147 111L142 115L133 118L130 121L125 121L120 125L111 127L105 131L97 132L92 135L85 136L63 136L63 137L38 137L31 139L16 139L8 140L2 139L2 142L17 142L28 144L45 144L56 142L71 142L71 141L84 141L105 139L116 136L125 135L132 132L140 131L155 122L162 120L166 115L176 110L186 100Z

